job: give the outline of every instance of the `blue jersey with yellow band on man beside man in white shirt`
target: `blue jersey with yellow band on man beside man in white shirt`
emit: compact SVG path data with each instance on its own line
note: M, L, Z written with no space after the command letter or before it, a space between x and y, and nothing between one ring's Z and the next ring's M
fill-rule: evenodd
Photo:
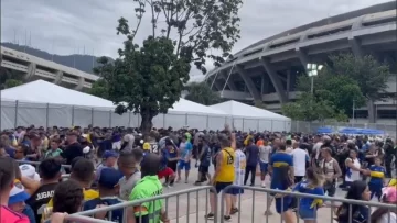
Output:
M286 153L275 153L270 157L270 163L272 167L272 176L270 182L270 189L286 190L290 186L288 185L288 171L286 168L293 166L293 158L291 155Z

